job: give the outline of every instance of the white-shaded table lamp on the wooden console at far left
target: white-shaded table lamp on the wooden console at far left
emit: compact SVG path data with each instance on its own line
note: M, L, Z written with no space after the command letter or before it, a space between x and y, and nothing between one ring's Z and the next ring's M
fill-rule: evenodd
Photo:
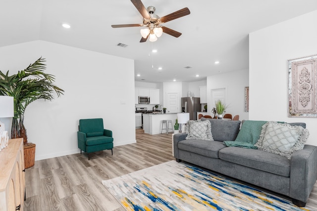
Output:
M13 97L0 96L0 118L13 117ZM0 151L8 145L8 132L5 131L4 123L0 121Z

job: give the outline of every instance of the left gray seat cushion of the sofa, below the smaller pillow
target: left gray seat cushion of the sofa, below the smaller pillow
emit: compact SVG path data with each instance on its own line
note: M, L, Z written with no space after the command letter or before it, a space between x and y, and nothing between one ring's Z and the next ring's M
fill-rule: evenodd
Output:
M178 149L209 158L219 158L218 151L224 147L219 141L186 139L178 142Z

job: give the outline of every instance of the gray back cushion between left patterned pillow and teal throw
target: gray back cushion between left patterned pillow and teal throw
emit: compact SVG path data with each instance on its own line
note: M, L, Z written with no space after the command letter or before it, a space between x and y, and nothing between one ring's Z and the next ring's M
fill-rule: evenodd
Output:
M201 121L210 121L211 134L215 141L234 141L239 133L240 121L226 121L218 119L207 119L202 117Z

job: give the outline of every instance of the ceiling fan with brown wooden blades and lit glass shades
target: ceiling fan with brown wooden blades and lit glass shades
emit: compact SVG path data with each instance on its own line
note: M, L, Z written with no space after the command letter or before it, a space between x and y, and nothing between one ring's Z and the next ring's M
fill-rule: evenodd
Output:
M189 15L190 11L187 7L160 18L158 15L154 13L155 12L154 6L149 6L146 9L141 0L131 0L131 2L137 8L137 10L141 13L143 17L143 23L142 24L111 25L112 28L146 26L147 28L141 29L142 38L140 42L146 42L149 37L150 37L149 40L151 42L155 42L162 35L163 32L175 38L178 38L179 36L182 35L182 33L176 32L172 29L162 26L161 24L174 20L176 18L183 17L185 15Z

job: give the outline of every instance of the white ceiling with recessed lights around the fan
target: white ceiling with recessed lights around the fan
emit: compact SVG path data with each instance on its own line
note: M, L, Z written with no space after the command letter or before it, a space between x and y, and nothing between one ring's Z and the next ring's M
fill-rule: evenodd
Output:
M191 14L164 24L182 35L174 38L163 33L157 42L140 43L143 27L111 28L112 24L142 23L130 0L1 0L0 46L55 42L134 59L136 81L193 82L248 69L249 33L317 10L317 0L142 2L145 7L155 6L160 17L188 7ZM62 23L71 28L63 28ZM152 53L152 49L158 52ZM220 63L215 65L215 61ZM184 68L187 66L192 68Z

